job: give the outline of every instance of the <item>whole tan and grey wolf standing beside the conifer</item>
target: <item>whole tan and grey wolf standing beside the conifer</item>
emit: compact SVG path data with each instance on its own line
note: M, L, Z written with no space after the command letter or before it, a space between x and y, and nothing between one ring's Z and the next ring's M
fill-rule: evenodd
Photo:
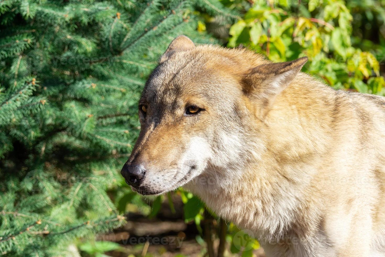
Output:
M184 186L266 256L385 256L385 97L335 91L307 60L177 37L122 176L142 195Z

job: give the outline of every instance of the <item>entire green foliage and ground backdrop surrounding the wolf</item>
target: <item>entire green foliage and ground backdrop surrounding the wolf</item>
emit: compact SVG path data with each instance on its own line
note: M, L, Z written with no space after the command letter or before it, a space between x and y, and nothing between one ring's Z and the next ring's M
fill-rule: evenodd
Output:
M377 0L0 2L0 254L264 256L182 188L142 197L120 169L137 101L177 35L247 47L335 89L385 95Z

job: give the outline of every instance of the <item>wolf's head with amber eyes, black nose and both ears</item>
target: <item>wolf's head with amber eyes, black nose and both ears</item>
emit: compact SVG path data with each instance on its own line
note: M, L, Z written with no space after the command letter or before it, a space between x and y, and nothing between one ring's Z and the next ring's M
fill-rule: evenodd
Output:
M306 61L272 63L247 50L174 39L142 92L141 133L121 171L126 182L159 194L258 160L264 116Z

